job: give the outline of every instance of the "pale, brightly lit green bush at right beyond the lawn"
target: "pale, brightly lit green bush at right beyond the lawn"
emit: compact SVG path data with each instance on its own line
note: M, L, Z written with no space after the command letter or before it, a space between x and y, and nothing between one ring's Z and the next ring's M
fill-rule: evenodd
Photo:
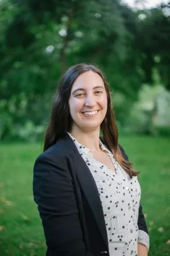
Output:
M157 78L158 79L158 78ZM142 85L138 101L130 108L124 118L125 133L169 136L170 129L170 94L155 81L154 86Z

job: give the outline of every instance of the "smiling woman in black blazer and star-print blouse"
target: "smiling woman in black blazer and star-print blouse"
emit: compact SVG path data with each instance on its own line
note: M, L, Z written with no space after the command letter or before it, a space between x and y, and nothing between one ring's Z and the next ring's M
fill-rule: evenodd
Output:
M102 72L85 63L72 66L53 98L44 153L34 166L46 255L146 256L137 175L118 145Z

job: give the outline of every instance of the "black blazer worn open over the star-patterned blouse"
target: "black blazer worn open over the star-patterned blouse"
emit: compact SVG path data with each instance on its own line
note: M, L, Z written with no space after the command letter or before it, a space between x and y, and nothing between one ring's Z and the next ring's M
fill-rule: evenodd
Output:
M121 151L127 159L122 147ZM96 183L68 134L36 159L33 190L47 243L46 255L109 255ZM148 233L141 206L138 227Z

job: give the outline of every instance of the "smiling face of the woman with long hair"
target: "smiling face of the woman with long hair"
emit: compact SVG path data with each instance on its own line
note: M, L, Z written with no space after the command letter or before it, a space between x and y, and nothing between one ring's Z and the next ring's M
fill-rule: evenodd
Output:
M78 128L88 132L100 128L107 112L107 94L97 73L87 71L73 83L69 111L73 119L72 130Z

